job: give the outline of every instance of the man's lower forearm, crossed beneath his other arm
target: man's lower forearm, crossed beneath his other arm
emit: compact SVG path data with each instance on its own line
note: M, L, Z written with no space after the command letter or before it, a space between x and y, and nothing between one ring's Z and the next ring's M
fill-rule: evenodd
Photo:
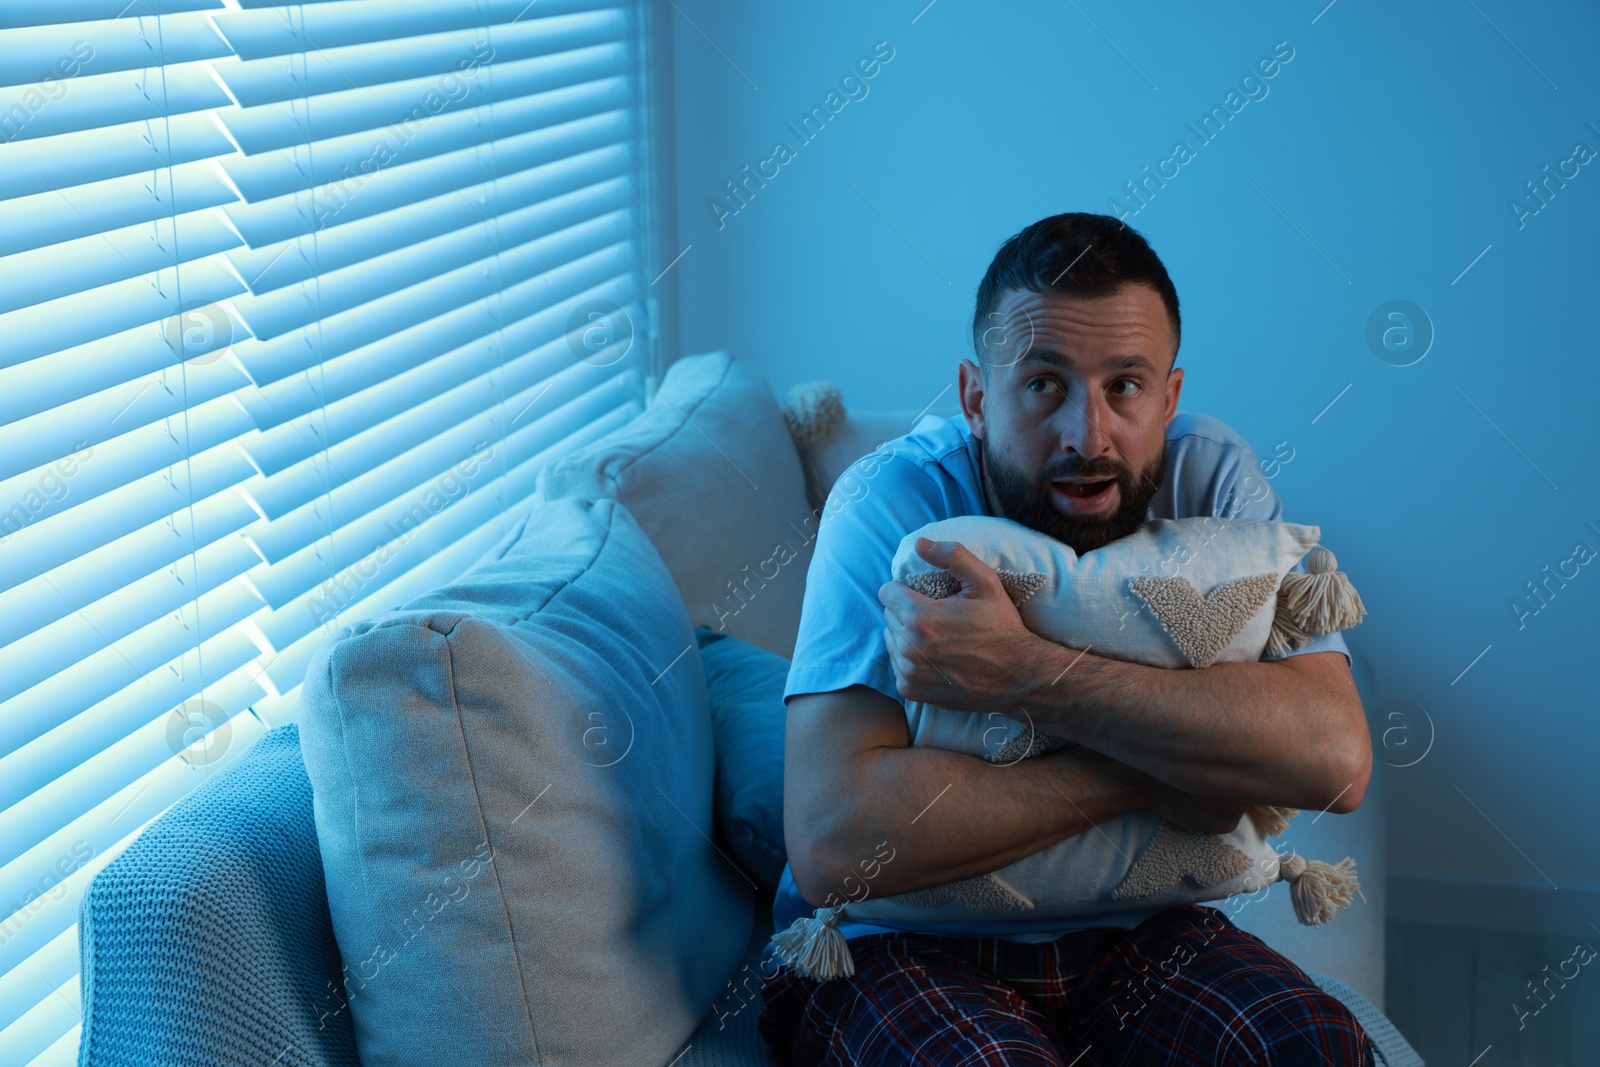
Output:
M822 905L986 875L1142 805L1107 760L1080 749L1011 765L882 749L824 835L816 873L826 885L802 893Z

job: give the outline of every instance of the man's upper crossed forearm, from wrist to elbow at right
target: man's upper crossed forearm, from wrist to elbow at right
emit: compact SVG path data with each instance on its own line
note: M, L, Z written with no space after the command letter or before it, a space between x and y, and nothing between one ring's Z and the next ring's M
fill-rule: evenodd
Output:
M1186 792L1349 811L1366 787L1366 720L1339 653L1170 670L1038 638L1027 659L1006 715Z

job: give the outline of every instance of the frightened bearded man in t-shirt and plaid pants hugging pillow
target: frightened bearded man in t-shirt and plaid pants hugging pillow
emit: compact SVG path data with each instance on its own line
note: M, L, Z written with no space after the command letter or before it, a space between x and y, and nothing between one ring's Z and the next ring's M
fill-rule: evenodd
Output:
M1032 633L955 542L917 552L957 595L885 581L906 533L952 515L1005 515L1080 553L1152 518L1282 518L1251 448L1178 411L1178 294L1122 222L1058 214L1010 238L979 285L973 344L965 426L925 419L888 459L859 461L862 493L818 531L784 689L779 929L830 894L859 897L862 870L882 897L1130 811L1226 833L1251 803L1347 813L1366 789L1366 717L1338 633L1166 670ZM1077 744L1010 766L917 749L902 701L998 710ZM1373 1062L1342 1003L1214 907L840 933L854 976L778 966L763 982L762 1033L794 1064Z

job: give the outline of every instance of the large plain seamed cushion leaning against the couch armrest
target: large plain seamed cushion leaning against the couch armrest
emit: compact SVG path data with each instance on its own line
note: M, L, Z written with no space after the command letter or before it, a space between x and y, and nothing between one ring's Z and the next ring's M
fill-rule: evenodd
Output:
M301 744L363 1064L682 1048L752 918L693 648L627 509L562 499L317 651Z

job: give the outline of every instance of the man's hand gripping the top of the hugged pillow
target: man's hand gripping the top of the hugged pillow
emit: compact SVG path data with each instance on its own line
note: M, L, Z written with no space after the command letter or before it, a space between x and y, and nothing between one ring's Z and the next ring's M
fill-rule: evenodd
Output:
M904 582L878 587L883 643L901 696L957 712L1014 707L1029 649L1042 638L1022 624L994 568L966 545L918 537L915 547L962 589L934 600Z

